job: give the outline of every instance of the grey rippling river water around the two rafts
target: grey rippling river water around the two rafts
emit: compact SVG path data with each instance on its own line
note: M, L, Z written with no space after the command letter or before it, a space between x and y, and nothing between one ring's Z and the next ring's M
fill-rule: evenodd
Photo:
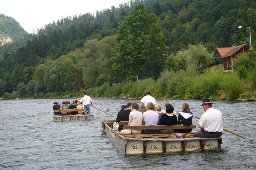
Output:
M139 99L93 99L93 120L53 122L56 99L0 101L0 169L256 169L256 103L213 101L222 111L224 128L222 149L158 155L127 156L115 147L101 128L104 119L115 119L122 104ZM61 101L73 99L58 99ZM169 101L176 112L189 103L194 115L203 113L200 100ZM193 118L193 124L198 120ZM198 130L197 128L196 130Z

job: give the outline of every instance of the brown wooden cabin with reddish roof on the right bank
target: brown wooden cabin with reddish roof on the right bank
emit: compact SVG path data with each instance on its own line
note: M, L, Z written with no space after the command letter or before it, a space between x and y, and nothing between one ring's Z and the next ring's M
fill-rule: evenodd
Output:
M222 59L223 71L232 71L233 58L240 54L245 55L249 48L243 44L232 48L216 48L216 50L220 54L220 59Z

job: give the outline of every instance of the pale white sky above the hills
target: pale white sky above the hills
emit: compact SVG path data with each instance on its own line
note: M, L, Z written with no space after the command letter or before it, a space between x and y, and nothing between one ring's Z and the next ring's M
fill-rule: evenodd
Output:
M116 8L128 0L0 0L0 13L11 16L28 33L57 22L63 16L77 16L81 13L96 14L96 11Z

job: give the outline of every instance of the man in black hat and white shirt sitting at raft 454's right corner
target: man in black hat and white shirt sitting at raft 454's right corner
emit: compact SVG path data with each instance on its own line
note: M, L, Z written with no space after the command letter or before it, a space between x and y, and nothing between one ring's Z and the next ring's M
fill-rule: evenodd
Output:
M201 130L196 132L196 137L200 138L218 138L222 135L223 121L225 120L221 111L212 107L212 102L209 99L204 99L204 113L202 114L198 125Z

